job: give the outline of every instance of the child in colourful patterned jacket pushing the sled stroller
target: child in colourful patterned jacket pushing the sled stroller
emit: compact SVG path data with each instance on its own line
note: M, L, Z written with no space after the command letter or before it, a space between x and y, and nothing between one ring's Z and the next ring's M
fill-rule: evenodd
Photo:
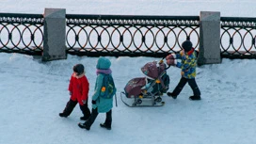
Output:
M190 100L200 100L200 88L196 82L196 67L197 67L197 52L192 47L193 44L190 40L185 40L182 43L183 50L179 54L170 54L166 57L167 64L170 66L176 66L181 68L181 80L176 88L172 92L168 92L168 96L176 99L180 94L185 84L188 82L190 88L192 88L194 95L190 96ZM178 62L177 59L182 59Z

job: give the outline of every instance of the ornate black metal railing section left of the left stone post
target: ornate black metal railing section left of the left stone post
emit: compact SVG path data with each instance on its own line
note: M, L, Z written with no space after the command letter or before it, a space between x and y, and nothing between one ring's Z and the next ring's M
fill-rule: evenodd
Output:
M42 26L41 14L0 13L0 52L40 55Z

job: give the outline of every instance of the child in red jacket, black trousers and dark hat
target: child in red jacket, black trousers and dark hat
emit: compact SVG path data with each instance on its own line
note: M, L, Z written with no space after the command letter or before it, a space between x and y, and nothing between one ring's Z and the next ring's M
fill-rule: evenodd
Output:
M69 85L69 91L71 94L70 101L66 104L62 113L59 113L60 117L67 118L71 115L73 108L78 103L82 113L84 114L80 120L88 120L90 111L88 109L88 79L85 75L85 68L82 64L73 66L73 73Z

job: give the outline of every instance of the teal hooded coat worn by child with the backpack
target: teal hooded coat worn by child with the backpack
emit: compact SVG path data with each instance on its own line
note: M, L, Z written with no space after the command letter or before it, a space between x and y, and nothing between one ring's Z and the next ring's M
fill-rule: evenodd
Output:
M105 57L100 57L98 59L96 68L100 70L107 70L110 68L110 65L111 65L111 62L109 61L109 59ZM102 86L103 86L103 80L104 80L104 74L99 73L97 75L94 94L92 96L92 100L96 101L96 104L92 104L92 108L93 109L98 108L98 113L106 113L109 110L111 110L113 107L113 98L105 99L100 96Z

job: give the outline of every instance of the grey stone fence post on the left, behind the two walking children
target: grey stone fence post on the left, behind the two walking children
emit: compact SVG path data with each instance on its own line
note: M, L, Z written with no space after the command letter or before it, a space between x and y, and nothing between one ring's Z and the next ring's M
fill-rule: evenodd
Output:
M66 9L45 8L43 24L42 61L65 59L66 55Z

